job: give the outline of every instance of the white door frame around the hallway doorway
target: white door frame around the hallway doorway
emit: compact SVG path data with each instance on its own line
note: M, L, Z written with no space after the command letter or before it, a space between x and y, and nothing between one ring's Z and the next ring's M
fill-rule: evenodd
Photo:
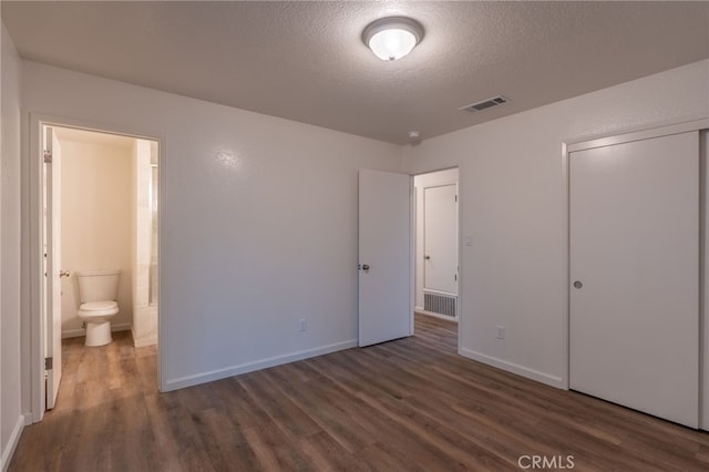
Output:
M459 355L462 356L461 353L461 346L462 346L462 332L463 332L463 290L461 290L461 287L463 286L463 277L464 277L464 270L463 270L463 220L462 220L462 215L463 215L463 185L462 185L462 181L463 181L463 173L462 173L462 168L463 165L453 165L450 167L441 167L441 168L435 168L432 171L425 171L425 172L419 172L418 174L412 174L411 175L411 187L415 189L414 186L414 177L418 177L419 175L425 175L425 174L435 174L436 172L443 172L443 171L451 171L451 170L458 170L458 182L448 182L448 184L436 184L434 186L441 186L441 185L451 185L451 184L456 184L458 185L458 307L456 307L456 312L458 312L458 347L456 347L456 351ZM411 301L411 306L412 308L415 307L415 297L417 297L417 285L415 285L415 277L419 271L419 261L417 259L417 245L418 245L418 237L417 237L417 215L418 215L418 208L417 208L417 195L415 192L412 195L412 199L413 199L413 205L412 205L412 218L411 218L411 260L412 260L412 267L413 270L411 271L411 286L413 287L413 293L412 293L412 301ZM413 310L412 310L413 311ZM413 326L413 312L411 314L411 324ZM413 331L412 331L413 332Z

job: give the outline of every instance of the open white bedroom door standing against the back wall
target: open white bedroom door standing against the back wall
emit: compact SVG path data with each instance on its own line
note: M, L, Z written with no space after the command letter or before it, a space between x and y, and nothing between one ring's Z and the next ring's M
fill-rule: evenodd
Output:
M412 335L411 178L359 172L359 346Z

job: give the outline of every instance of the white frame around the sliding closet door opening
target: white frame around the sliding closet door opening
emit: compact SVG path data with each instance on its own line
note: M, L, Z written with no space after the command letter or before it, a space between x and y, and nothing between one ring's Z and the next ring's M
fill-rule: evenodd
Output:
M563 312L565 314L562 317L562 332L564 334L564 343L563 343L563 368L562 368L562 384L561 387L565 390L568 390L568 379L569 379L569 316L571 316L571 240L569 240L569 166L568 160L572 152L588 150L594 147L604 147L610 146L614 144L629 143L633 141L641 141L641 140L650 140L653 137L666 136L670 134L686 133L690 131L700 131L709 127L709 119L701 119L695 121L686 121L686 122L674 122L674 123L665 123L655 127L643 129L643 130L634 130L626 133L617 133L617 134L604 134L602 136L596 136L593 138L583 138L583 140L569 140L562 143L562 202L563 202L563 212L562 212L562 234L563 234L563 250L565 261L565 275L563 277L564 288L563 288ZM700 211L703 212L705 204L700 202ZM701 230L701 229L700 229ZM701 253L700 253L700 257ZM703 277L703 274L702 274ZM702 278L700 277L700 278ZM707 290L708 280L703 280L703 285L701 288ZM701 290L700 290L701 291ZM700 299L702 295L700 295ZM702 307L700 307L701 311ZM700 317L701 319L701 317ZM707 339L709 340L709 329L705 325L703 330L707 334ZM698 334L700 337L700 352L702 352L702 345L705 334ZM703 357L703 356L702 356ZM709 362L707 362L709 365ZM705 371L707 371L707 366L703 367ZM702 367L700 366L700 369ZM709 372L705 374L705 377L709 377ZM700 383L705 386L709 386L709 379L700 379ZM705 387L706 388L706 387ZM701 402L701 401L700 401Z

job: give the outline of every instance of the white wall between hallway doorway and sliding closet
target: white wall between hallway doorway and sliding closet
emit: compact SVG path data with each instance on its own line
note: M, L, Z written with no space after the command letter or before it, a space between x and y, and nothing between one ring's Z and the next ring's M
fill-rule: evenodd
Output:
M701 61L405 150L412 173L460 166L460 223L472 237L462 246L462 353L564 384L562 142L707 117L707 90L709 62Z

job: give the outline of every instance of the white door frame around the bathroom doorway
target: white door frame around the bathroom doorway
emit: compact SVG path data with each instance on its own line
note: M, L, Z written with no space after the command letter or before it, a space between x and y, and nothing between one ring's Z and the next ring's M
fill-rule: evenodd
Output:
M42 155L42 126L60 126L60 127L75 127L88 131L95 131L100 133L107 134L120 134L124 136L135 137L135 138L145 138L151 141L156 141L158 143L158 199L160 199L160 209L157 213L158 217L158 252L163 250L164 246L164 208L165 208L165 162L166 158L166 140L162 136L146 135L142 133L136 133L133 130L126 130L120 126L112 125L103 125L96 123L90 123L80 120L72 120L65 117L50 116L38 113L30 113L30 146L29 146L29 249L23 250L29 257L29 300L24 299L23 316L29 319L29 330L30 330L30 346L29 353L30 358L23 360L23 371L29 372L30 376L30 411L32 423L37 423L42 421L44 417L44 330L43 330L43 301L44 295L42 293L42 284L44 278L44 269L42 267L43 264L43 248L42 248L42 232L44 226L43 218L43 188L42 188L42 166L43 155ZM28 182L24 181L24 182ZM25 226L27 227L27 226ZM167 326L166 320L162 314L166 311L166 307L164 306L165 297L163 294L165 293L165 279L167 278L167 268L165 267L165 257L162 255L157 258L158 271L160 271L160 289L158 289L158 301L157 301L157 384L158 389L162 390L165 384L165 380L163 379L163 373L166 371L164 366L164 342L166 339ZM29 310L29 314L27 314ZM28 316L29 315L29 316Z

